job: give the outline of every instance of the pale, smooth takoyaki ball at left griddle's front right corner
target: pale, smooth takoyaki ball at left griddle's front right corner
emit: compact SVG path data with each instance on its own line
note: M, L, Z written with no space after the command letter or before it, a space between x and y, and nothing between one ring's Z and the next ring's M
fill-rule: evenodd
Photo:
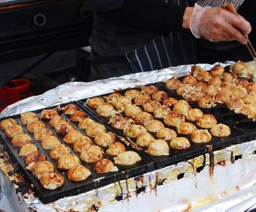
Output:
M121 166L131 166L140 162L141 158L135 151L124 151L118 156L114 157L115 164Z

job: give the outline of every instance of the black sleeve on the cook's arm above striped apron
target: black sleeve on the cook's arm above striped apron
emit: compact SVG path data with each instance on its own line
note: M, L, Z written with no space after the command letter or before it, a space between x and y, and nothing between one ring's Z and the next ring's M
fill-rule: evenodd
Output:
M118 10L97 14L111 23L163 34L169 31L182 31L185 9L186 7L154 0L126 0Z

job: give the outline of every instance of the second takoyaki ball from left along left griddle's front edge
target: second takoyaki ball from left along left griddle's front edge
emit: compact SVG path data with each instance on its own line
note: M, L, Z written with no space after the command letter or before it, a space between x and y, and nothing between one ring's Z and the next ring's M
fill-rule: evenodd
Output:
M91 172L86 167L77 165L67 171L67 178L69 181L83 181L91 176Z

